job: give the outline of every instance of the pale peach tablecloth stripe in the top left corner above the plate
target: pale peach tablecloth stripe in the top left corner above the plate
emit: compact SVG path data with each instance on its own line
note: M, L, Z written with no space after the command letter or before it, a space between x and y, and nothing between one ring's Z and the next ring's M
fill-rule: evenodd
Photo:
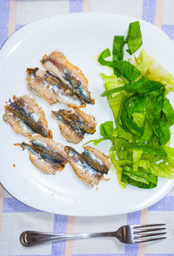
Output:
M9 12L9 37L16 31L17 24L17 0L10 0Z

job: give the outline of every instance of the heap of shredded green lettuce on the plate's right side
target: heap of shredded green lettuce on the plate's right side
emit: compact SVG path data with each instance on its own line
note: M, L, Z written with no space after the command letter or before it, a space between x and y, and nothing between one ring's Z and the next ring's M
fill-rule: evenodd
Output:
M113 75L101 77L115 124L101 124L101 138L90 142L111 141L110 159L121 187L150 189L158 177L174 179L174 149L169 146L174 111L166 98L174 91L174 77L144 50L125 61L125 45L130 55L142 45L139 22L130 24L126 38L114 37L112 56L106 49L98 57L100 64L113 69Z

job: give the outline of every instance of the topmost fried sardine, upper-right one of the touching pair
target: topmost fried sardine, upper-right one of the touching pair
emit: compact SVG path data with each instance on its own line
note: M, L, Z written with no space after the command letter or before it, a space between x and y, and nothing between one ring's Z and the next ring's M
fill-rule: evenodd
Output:
M65 84L69 84L78 98L87 104L95 103L88 91L87 78L77 66L70 64L63 52L53 51L49 56L44 55L41 62L46 70L52 71Z

